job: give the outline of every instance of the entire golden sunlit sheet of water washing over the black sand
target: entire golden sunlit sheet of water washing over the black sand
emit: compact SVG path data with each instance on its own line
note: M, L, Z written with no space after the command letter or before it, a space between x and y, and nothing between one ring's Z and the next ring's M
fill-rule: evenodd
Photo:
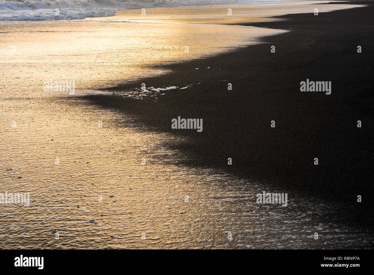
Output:
M142 77L165 72L163 64L283 32L196 24L204 13L207 21L216 18L217 8L175 8L190 14L181 22L170 9L151 9L157 16L148 22L134 18L134 10L0 22L0 193L30 193L30 206L0 204L0 248L367 247L367 235L331 218L338 206L300 197L281 183L269 189L267 182L183 166L188 156L164 144L188 140L80 97L125 81L140 88ZM251 18L249 10L241 18ZM51 79L74 81L75 93L45 91ZM161 93L148 96L157 101ZM288 206L257 204L263 191L288 193Z

